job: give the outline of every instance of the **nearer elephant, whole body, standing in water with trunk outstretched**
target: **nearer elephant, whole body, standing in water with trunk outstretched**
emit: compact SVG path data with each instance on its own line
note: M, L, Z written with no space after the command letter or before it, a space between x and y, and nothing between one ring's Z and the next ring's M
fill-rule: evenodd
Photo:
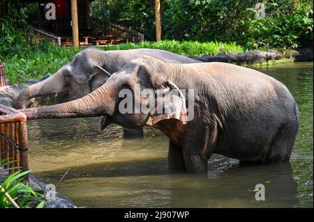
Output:
M135 93L138 86L155 94L179 92L158 113L145 93ZM133 106L149 111L122 112L125 98L119 94L126 89L133 92ZM193 90L193 100L185 89ZM289 161L299 129L294 97L267 74L229 63L174 64L151 56L130 61L78 100L20 111L29 119L103 116L101 129L112 122L126 128L156 127L169 138L168 168L188 173L207 171L214 153L259 164Z

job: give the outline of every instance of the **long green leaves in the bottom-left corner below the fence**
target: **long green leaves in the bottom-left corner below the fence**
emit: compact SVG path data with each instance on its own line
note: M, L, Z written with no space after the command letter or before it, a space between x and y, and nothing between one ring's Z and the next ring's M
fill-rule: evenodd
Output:
M7 161L6 159L0 161L0 168L10 164L12 161ZM8 171L6 169L5 171ZM31 207L33 203L36 203L38 199L43 199L43 196L40 193L36 193L33 191L29 185L24 184L22 181L24 180L25 175L27 175L30 171L17 171L11 175L8 175L6 178L1 179L1 187L10 195L13 200L20 207ZM14 207L10 200L6 197L3 191L0 191L0 208L8 208Z

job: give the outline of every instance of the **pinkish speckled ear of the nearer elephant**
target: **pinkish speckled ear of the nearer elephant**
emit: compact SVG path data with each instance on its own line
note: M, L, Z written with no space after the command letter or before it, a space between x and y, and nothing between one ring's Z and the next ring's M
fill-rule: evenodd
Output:
M157 90L154 112L150 113L147 125L154 125L161 120L177 119L187 122L186 98L181 90L170 80L163 84L165 88Z

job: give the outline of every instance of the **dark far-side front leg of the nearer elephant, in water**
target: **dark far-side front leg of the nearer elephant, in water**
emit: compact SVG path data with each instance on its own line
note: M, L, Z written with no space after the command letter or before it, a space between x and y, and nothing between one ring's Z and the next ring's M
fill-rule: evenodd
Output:
M168 151L168 168L179 169L184 168L184 157L182 149L169 141L169 151Z

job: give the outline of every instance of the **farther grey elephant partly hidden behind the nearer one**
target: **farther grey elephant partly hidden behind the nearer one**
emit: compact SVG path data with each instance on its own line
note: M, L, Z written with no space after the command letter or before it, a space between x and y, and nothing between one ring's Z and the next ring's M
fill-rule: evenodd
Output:
M73 60L64 65L48 79L26 88L17 97L16 109L24 109L28 100L60 93L62 102L76 100L102 86L111 73L121 70L129 61L140 56L154 56L170 63L200 63L186 56L159 49L130 49L103 51L87 48L76 54ZM125 129L124 137L141 137L142 129Z

